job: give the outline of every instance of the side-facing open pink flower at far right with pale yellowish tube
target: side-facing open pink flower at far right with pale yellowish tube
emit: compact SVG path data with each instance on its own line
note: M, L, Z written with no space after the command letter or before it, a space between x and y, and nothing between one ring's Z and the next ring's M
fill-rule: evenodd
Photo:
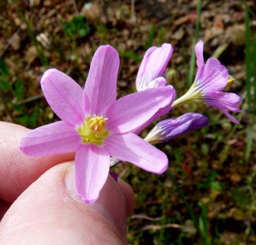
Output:
M232 122L239 123L228 111L238 113L241 97L233 93L222 92L226 85L233 82L225 66L216 58L209 58L204 63L203 41L195 46L198 71L194 83L185 95L173 103L173 107L186 102L204 102L220 109Z

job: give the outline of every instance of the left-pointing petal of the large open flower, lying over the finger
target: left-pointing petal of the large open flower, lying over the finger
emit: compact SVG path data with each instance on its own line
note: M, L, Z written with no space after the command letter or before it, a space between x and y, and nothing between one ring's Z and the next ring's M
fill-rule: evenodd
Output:
M26 133L20 142L20 149L27 155L51 155L74 152L80 145L75 128L59 121Z

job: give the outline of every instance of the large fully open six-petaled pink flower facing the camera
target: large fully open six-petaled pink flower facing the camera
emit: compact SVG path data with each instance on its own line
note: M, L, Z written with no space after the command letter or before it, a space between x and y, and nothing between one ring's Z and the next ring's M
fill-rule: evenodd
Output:
M173 100L174 91L156 87L116 100L117 51L96 51L84 90L69 76L50 69L41 78L42 91L62 120L27 133L20 149L28 155L75 154L75 188L86 203L99 196L110 169L110 156L147 171L166 170L166 155L131 132Z

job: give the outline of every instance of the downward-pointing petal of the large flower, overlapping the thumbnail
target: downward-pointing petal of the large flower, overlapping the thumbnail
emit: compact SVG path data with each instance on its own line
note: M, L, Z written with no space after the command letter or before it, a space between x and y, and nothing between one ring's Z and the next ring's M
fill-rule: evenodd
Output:
M95 202L110 170L110 155L96 145L83 146L75 156L75 188L86 203Z

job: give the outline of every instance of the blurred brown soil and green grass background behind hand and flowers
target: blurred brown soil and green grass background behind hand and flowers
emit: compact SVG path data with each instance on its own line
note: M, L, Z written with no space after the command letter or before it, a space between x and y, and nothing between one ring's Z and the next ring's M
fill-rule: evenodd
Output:
M58 120L39 86L46 69L57 68L83 86L95 50L111 44L121 59L120 98L135 92L145 51L168 42L174 54L165 77L180 96L193 82L194 44L202 39L205 59L219 58L235 78L226 91L243 98L236 115L241 125L204 104L182 105L165 116L199 112L210 124L157 145L169 158L161 175L128 163L113 168L136 195L127 239L256 244L254 1L2 0L0 9L0 119L29 128Z

